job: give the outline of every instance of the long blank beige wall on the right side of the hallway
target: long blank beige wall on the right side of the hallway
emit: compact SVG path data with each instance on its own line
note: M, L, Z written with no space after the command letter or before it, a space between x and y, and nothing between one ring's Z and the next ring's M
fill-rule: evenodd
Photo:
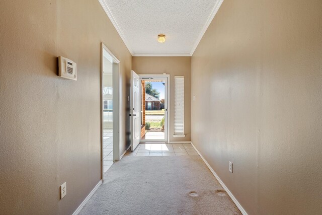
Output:
M192 56L192 142L249 214L322 214L321 20L225 0Z

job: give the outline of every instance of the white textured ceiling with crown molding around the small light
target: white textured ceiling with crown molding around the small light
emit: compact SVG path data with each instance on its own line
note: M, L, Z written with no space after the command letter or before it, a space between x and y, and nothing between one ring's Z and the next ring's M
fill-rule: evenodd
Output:
M99 1L133 56L191 56L223 0Z

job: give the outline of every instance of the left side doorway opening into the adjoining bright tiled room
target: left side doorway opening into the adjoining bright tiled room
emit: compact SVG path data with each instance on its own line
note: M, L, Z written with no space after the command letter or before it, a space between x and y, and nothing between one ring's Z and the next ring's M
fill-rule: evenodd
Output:
M103 43L101 67L102 179L104 179L104 173L114 161L119 160L119 60Z

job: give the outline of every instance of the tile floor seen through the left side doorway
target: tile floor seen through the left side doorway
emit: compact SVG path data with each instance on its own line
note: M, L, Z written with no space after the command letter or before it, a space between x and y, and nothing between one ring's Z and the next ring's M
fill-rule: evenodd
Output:
M103 134L104 173L113 164L113 130L104 129Z

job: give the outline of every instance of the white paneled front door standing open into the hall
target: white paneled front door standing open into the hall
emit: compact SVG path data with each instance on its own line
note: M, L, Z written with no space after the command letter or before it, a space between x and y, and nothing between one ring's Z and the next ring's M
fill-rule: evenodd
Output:
M132 70L131 72L131 140L132 147L131 150L134 151L135 148L140 143L140 134L141 134L141 126L140 126L140 78L139 76Z

